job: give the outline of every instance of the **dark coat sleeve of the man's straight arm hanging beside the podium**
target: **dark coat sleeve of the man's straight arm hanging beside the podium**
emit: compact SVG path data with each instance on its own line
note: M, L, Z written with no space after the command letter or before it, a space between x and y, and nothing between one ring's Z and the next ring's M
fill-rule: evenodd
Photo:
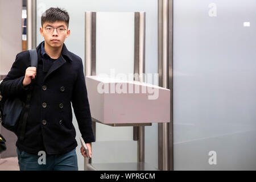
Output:
M85 85L84 67L80 58L77 78L73 86L72 106L76 115L79 130L85 143L95 142L92 130L92 118Z

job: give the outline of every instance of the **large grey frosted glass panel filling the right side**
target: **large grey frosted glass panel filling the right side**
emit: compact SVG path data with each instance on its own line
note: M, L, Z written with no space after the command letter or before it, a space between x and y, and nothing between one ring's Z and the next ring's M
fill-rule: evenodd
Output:
M174 1L175 170L256 169L255 10Z

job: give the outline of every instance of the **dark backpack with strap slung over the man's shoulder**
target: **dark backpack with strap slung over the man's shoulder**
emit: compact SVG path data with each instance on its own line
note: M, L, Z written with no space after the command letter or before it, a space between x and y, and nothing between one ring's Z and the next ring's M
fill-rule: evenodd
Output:
M30 63L31 67L38 67L38 53L36 49L29 50L30 52ZM32 80L32 84L34 84L34 80ZM2 122L2 126L7 130L13 131L16 135L18 135L18 125L20 121L20 117L22 118L22 133L20 135L20 139L24 139L28 110L30 108L30 100L31 100L32 86L30 87L26 102L21 101L18 97L10 97L5 98L1 96L0 93L0 123ZM24 109L24 114L22 111Z

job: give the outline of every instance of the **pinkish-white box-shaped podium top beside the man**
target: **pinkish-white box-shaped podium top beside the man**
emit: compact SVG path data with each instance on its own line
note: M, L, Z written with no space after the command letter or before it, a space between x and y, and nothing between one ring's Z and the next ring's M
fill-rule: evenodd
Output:
M86 76L93 119L112 126L170 122L170 89L114 77Z

